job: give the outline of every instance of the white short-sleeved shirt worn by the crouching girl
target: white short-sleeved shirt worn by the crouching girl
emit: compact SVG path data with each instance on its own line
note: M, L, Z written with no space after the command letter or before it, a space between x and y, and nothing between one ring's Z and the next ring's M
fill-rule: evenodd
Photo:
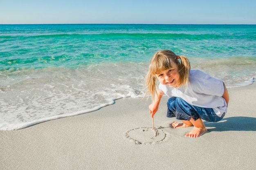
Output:
M187 89L184 86L172 88L163 84L159 84L159 89L168 97L181 97L193 106L213 108L219 117L223 113L227 113L227 103L222 97L224 93L223 82L202 71L190 71L189 86Z

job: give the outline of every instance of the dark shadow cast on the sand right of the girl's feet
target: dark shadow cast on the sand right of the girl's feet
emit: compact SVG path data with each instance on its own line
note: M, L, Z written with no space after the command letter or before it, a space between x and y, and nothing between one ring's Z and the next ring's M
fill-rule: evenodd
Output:
M204 122L209 131L256 131L255 117L227 117L219 122Z

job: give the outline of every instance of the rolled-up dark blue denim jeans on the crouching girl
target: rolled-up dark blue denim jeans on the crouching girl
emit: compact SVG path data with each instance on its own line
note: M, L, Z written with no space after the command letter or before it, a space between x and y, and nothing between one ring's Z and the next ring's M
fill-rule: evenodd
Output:
M209 122L217 122L225 116L225 113L223 113L221 117L218 117L213 108L193 106L180 97L168 99L167 106L167 117L176 117L179 120L190 120L192 117L195 121L201 118Z

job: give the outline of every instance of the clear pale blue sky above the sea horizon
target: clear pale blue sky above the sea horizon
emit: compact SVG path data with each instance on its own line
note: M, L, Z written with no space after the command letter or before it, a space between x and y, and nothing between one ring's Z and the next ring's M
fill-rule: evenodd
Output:
M0 24L256 24L256 0L0 0Z

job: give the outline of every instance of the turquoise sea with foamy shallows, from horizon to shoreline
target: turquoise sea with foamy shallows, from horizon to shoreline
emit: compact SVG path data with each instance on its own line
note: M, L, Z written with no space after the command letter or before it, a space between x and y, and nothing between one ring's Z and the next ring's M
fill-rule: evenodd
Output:
M227 88L254 83L256 25L2 24L0 130L141 98L150 58L163 49Z

